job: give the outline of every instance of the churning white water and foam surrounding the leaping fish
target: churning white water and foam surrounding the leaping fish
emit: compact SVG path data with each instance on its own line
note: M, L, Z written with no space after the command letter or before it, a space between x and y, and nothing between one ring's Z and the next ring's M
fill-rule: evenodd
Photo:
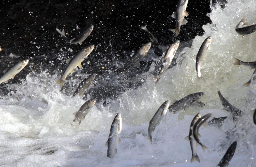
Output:
M122 92L113 100L96 103L81 125L70 127L76 112L85 100L60 92L55 82L60 74L51 76L47 71L31 72L22 84L8 84L11 91L0 99L0 164L4 166L216 166L233 141L236 152L229 166L254 166L256 125L251 110L256 107L256 83L243 84L253 70L233 65L232 57L255 61L256 33L243 38L235 26L246 16L256 23L255 0L230 0L223 8L215 4L209 17L212 24L204 25L205 34L196 36L190 48L178 49L177 65L168 69L154 85L154 64L144 74L147 79L138 89ZM189 5L188 5L189 8ZM198 9L200 10L200 9ZM192 15L193 13L189 13ZM182 26L181 26L182 28ZM204 39L212 36L201 73L206 82L196 76L193 55L197 54ZM177 53L178 53L177 52ZM28 67L26 67L28 68ZM100 78L98 78L100 80ZM68 82L68 81L66 81ZM97 85L97 83L95 84ZM97 85L100 87L100 85ZM222 110L217 91L235 107L243 111L236 122ZM165 100L181 99L194 92L204 92L202 107L189 107L170 114L148 140L148 123ZM87 99L90 96L87 95ZM201 163L190 163L191 148L184 138L188 136L193 117L211 113L214 117L228 116L220 128L202 126L201 142L205 151L197 147ZM113 159L107 157L105 143L116 113L122 115L121 143ZM225 132L233 129L226 138Z

